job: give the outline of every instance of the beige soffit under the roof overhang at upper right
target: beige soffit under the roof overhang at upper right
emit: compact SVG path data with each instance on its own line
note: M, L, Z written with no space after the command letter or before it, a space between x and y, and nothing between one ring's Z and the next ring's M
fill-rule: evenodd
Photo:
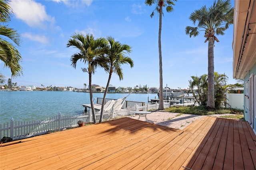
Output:
M235 10L233 77L244 79L256 64L256 3L238 1Z

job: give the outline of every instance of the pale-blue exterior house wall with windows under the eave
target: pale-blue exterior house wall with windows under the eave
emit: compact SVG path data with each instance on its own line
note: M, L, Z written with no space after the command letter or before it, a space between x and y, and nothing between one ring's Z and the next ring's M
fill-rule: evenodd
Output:
M250 75L252 75L252 81L250 82ZM252 84L252 89L250 89L250 83ZM251 93L252 96L250 96L250 91L253 92ZM253 112L253 130L256 132L256 65L248 71L246 76L244 77L244 119L246 121L250 120L250 110ZM252 100L253 105L252 108L250 108L250 100Z

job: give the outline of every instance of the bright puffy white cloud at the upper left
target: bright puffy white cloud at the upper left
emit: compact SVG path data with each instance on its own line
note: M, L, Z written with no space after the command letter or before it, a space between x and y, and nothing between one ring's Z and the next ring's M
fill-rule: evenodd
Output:
M33 0L10 1L10 6L16 18L21 19L31 27L45 27L44 22L54 22L54 17L46 14L45 7Z

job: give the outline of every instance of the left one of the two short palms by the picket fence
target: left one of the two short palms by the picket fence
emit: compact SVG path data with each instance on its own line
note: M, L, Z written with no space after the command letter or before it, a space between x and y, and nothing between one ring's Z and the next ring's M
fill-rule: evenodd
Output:
M107 52L106 48L106 39L105 38L97 38L94 39L93 35L89 34L84 37L81 33L76 33L71 36L71 39L68 40L67 47L74 46L79 52L75 53L71 56L71 66L76 69L76 63L78 60L83 63L87 63L87 68L82 68L83 72L88 73L89 75L89 91L90 91L90 102L92 109L92 118L93 122L96 123L95 113L94 113L94 104L92 100L92 74L94 74L95 69L100 67L107 67L106 63L101 63L100 55L105 54Z

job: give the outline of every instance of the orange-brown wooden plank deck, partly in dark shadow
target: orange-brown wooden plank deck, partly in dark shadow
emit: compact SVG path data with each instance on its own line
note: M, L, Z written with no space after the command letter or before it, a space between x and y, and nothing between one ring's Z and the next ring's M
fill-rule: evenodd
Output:
M0 148L1 170L256 169L256 136L232 119L206 117L177 130L121 118L20 141Z

